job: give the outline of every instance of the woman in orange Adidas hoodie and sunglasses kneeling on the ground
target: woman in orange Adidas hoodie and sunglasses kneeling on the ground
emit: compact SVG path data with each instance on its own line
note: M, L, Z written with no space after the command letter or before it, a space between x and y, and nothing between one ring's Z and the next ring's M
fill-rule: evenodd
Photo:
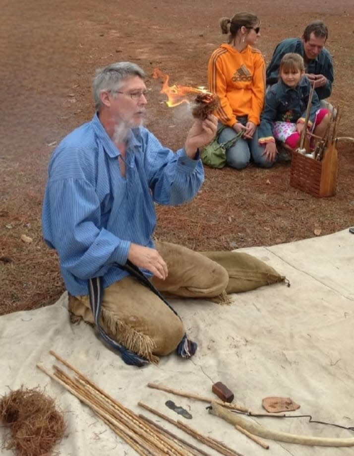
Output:
M257 16L246 12L237 13L232 19L221 18L222 32L229 33L229 40L213 52L208 64L209 90L221 102L215 115L219 127L226 126L219 141L227 142L242 131L226 152L227 164L237 169L247 166L251 159L262 167L273 164L258 144L257 126L265 96L265 63L261 52L253 47L259 24Z

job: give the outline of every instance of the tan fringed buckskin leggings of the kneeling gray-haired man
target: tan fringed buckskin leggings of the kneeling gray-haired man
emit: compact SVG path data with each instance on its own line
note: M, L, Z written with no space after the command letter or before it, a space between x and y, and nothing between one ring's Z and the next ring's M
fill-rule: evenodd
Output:
M152 278L163 294L222 301L229 283L227 270L186 247L156 242L166 261L166 280ZM69 296L69 311L94 324L88 296ZM127 276L104 290L100 325L119 344L157 363L159 356L174 351L185 333L179 317L135 277Z

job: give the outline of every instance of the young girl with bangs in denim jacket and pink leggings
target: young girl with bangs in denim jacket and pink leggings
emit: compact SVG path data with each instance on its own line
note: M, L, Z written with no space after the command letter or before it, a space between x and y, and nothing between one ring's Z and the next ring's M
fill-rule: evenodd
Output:
M280 63L279 80L266 94L258 142L264 147L263 154L269 161L276 159L276 140L292 149L299 146L311 90L304 74L303 58L295 53L285 54ZM328 110L320 107L314 92L308 127L323 137L328 122Z

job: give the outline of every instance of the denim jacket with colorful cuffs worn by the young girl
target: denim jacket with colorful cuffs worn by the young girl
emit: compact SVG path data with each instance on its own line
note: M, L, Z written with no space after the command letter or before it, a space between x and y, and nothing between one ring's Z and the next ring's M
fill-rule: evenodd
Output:
M273 123L277 121L295 124L299 119L305 120L311 85L307 77L302 77L295 88L284 84L280 79L266 93L261 125L258 128L259 143L274 141ZM312 125L316 111L320 109L320 101L313 92L309 125Z

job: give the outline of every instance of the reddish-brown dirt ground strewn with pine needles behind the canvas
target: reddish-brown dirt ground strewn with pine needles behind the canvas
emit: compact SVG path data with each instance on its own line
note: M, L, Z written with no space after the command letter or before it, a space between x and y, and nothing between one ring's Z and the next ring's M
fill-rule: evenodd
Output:
M147 75L146 125L163 143L182 145L192 118L167 108L160 68L170 82L206 85L207 62L223 41L222 16L247 10L262 21L258 48L269 62L282 39L300 36L313 19L330 31L335 63L332 103L339 136L354 136L354 3L351 0L1 0L0 28L0 314L54 303L64 290L56 253L42 241L41 204L54 147L91 119L97 67L132 61ZM286 4L286 7L284 6ZM237 8L237 9L235 9ZM314 198L289 184L290 165L206 170L193 202L157 207L159 239L195 250L231 250L326 235L354 225L354 147L341 142L337 195ZM21 241L21 235L32 239ZM311 252L309 252L311 255Z

